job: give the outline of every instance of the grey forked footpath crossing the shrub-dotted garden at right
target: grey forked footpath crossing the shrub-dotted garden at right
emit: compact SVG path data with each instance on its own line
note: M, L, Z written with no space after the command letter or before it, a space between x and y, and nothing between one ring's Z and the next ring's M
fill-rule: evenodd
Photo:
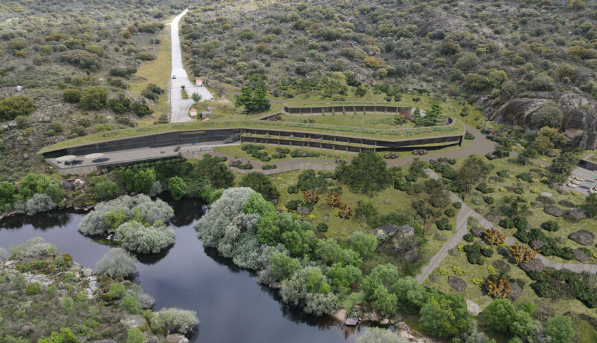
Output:
M436 180L439 179L439 176L435 174L434 171L431 169L427 169L425 171L431 178ZM450 192L450 198L453 202L460 201L456 194ZM482 215L476 213L471 209L467 204L463 202L463 206L458 212L458 216L456 216L456 233L454 236L450 238L446 244L434 255L429 263L427 263L423 268L421 268L421 272L415 276L415 279L419 281L419 283L423 283L425 279L440 265L440 263L445 259L447 256L448 250L454 248L458 245L458 243L463 239L463 236L468 232L468 219L469 217L475 218L479 224L481 224L484 228L495 228L495 225L486 220ZM511 237L506 237L506 244L512 245L515 244L515 240ZM543 265L549 268L554 268L557 270L567 269L572 270L572 272L589 272L591 274L597 274L597 265L594 264L581 264L581 263L554 263L544 257L543 255L537 255L537 259L540 259L543 262Z

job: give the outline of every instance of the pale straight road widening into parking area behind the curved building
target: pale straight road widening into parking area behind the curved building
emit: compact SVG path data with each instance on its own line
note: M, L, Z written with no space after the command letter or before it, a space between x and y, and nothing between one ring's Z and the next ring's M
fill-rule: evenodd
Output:
M201 95L202 100L213 100L213 96L207 88L204 86L195 86L195 82L189 80L187 71L183 68L183 56L180 51L180 37L178 36L178 21L185 14L187 10L178 14L174 20L169 24L172 26L170 30L170 36L172 39L172 75L170 76L169 82L169 100L170 100L170 122L180 123L183 121L192 121L189 117L189 108L194 104L191 95L198 93ZM176 78L173 78L176 76ZM185 86L185 90L189 94L189 99L183 99L182 86Z

